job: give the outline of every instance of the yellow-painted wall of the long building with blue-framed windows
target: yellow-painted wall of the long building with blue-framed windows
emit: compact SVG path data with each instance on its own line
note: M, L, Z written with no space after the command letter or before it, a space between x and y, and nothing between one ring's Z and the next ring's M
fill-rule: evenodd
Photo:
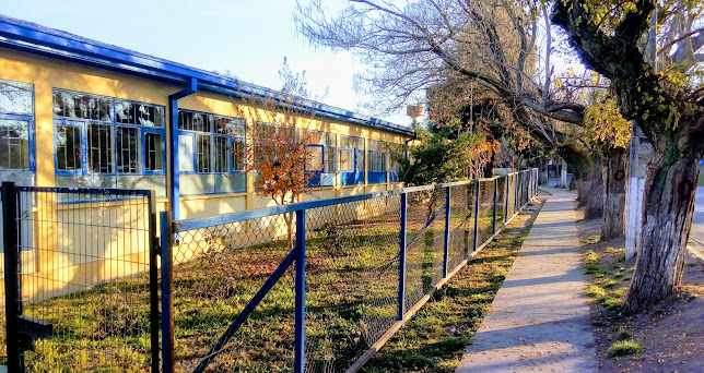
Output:
M54 88L161 105L166 108L168 96L181 89L175 85L4 48L0 48L0 79L34 85L37 186L54 186L56 184ZM274 122L277 117L281 118L275 112L211 93L196 93L183 98L179 100L179 108L245 118L248 124L251 124L254 120ZM399 144L406 140L398 134L343 121L330 121L315 117L298 117L295 121L301 129L337 133L338 144L340 135L383 140ZM168 125L166 135L167 139L171 136ZM169 154L166 157L171 159ZM337 186L316 189L304 196L304 200L329 198L398 186L394 183L341 186L339 176L337 180ZM274 205L270 198L256 195L251 175L247 177L245 193L181 196L179 203L180 218L183 219ZM23 262L26 267L24 270L32 273L38 280L26 281L24 285L23 293L28 299L34 299L36 294L47 297L61 294L66 291L82 290L101 281L131 276L148 269L149 248L145 244L144 231L125 231L116 228L133 222L128 221L130 218L145 216L145 212L125 210L115 206L90 207L80 204L67 207L56 205L56 201L44 201L37 206L51 207L44 210L34 208L32 213L35 220L32 232L34 248L23 252ZM156 213L166 208L168 208L167 200L159 198L155 207ZM113 225L110 226L95 224L90 229L79 226L69 229L56 224L67 219L79 219L80 224L91 225L104 219L106 214L112 217ZM44 222L36 222L39 220ZM140 224L145 224L146 220L140 221ZM272 237L281 234L280 226L272 229L275 231L271 234Z

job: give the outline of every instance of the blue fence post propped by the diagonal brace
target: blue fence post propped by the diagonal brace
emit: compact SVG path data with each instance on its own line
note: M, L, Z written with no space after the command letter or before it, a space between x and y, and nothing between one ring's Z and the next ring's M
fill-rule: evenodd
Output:
M296 210L296 304L294 372L305 369L306 210Z

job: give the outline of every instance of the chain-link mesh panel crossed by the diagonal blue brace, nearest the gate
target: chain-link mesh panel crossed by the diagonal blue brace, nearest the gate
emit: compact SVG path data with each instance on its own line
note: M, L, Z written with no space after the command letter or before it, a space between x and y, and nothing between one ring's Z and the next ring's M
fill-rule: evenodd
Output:
M290 254L295 227L295 214L289 213L177 233L173 249L175 371L293 369L293 266L234 333L226 337L226 332ZM215 349L219 341L222 348Z

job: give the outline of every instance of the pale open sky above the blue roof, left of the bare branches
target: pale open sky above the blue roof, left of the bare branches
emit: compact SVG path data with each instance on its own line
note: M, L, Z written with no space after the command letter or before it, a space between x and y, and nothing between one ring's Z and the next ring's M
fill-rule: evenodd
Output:
M353 89L364 69L349 52L315 48L295 31L295 0L0 0L0 13L98 41L225 72L280 89L286 57L306 72L312 95L325 104L391 121L404 113L369 112Z

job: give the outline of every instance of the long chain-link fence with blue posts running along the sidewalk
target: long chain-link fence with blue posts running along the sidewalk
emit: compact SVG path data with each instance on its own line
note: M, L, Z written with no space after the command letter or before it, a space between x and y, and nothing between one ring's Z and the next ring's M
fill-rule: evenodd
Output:
M359 369L532 200L536 182L527 170L206 219L163 215L164 372Z

